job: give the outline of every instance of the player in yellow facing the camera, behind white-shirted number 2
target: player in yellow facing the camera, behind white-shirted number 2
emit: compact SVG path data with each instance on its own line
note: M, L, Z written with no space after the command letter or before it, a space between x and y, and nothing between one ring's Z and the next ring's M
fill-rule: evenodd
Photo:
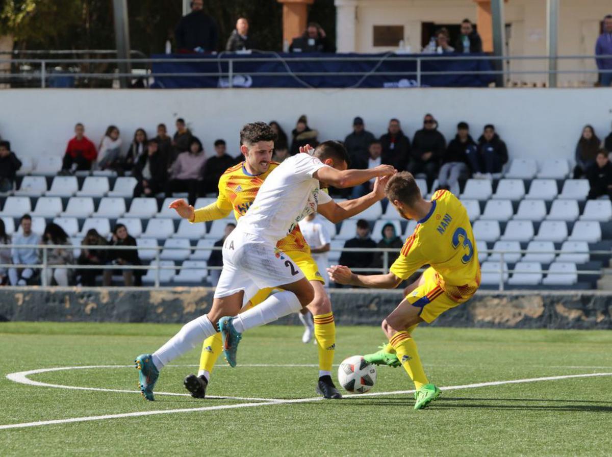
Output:
M223 173L218 183L217 201L206 207L193 209L183 199L176 200L170 204L170 207L174 208L181 217L187 218L192 223L199 223L224 218L232 211L236 220L247 213L255 200L259 187L272 170L279 165L271 161L272 148L268 146L269 141L259 141L259 137L246 138L248 136L248 132L245 132L247 127L248 124L241 132L241 152L244 155L244 162L228 168ZM269 139L267 136L261 138ZM342 147L336 142L326 143L334 143L330 145L332 147ZM326 143L322 143L319 147L326 147ZM333 223L337 223L362 212L383 199L384 184L386 184L386 179L377 180L374 190L368 195L340 204L334 201L319 204L317 211ZM335 352L335 322L331 302L324 289L322 273L325 274L325 272L319 272L315 260L310 255L310 247L297 224L288 236L278 241L277 249L288 255L297 264L315 291L315 299L308 305L308 310L314 316L315 339L318 346L319 379L316 391L324 398L341 398L331 378ZM247 307L243 308L243 311L263 302L270 292L270 289L259 291L247 304ZM204 341L198 375L190 374L185 377L184 381L185 388L195 398L204 398L206 395L206 387L212 369L221 352L220 333Z

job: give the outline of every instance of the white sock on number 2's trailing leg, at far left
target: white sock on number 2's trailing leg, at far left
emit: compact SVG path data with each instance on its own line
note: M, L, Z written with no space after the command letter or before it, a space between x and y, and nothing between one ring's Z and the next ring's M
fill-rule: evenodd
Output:
M215 330L206 314L193 319L191 322L187 322L179 330L179 333L170 338L166 344L153 353L154 365L157 367L157 370L161 370L164 365L190 351L215 333L217 333L217 330Z

